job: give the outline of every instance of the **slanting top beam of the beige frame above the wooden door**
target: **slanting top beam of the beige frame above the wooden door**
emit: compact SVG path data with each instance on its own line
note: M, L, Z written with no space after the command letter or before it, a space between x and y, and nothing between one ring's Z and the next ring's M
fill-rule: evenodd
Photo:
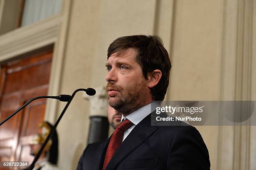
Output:
M0 36L0 62L56 42L61 16L39 21Z

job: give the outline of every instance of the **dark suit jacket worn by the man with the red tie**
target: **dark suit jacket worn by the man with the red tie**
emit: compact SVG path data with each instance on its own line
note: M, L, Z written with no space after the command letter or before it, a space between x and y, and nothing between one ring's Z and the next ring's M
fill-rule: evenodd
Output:
M109 140L88 145L77 170L101 170ZM106 170L210 170L210 160L195 127L151 126L149 114L121 143Z

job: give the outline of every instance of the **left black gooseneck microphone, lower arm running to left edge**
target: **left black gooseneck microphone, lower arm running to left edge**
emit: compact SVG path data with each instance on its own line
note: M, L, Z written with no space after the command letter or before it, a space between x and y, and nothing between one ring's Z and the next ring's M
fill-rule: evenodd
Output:
M94 90L94 89L93 89ZM20 107L19 109L17 109L15 112L13 112L12 114L10 114L10 116L8 116L7 118L5 118L3 121L0 122L0 126L2 124L4 124L6 121L8 121L11 117L13 117L15 114L17 114L18 112L20 112L21 109L23 109L24 107L26 107L28 104L30 104L32 101L37 100L37 99L58 99L60 101L69 101L70 99L70 95L67 94L61 94L59 96L39 96L39 97L35 97L33 99L30 99L26 104L24 104L22 107Z

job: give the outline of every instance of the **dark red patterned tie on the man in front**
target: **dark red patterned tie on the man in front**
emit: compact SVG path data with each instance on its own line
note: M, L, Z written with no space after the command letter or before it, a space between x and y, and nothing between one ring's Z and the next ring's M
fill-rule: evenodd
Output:
M130 120L125 119L120 124L118 124L118 126L115 128L115 131L113 132L112 137L108 144L108 149L105 155L105 160L103 163L102 170L105 170L105 168L108 165L108 162L111 160L111 157L114 155L117 148L121 145L124 131L129 127L131 127L132 125L133 123Z

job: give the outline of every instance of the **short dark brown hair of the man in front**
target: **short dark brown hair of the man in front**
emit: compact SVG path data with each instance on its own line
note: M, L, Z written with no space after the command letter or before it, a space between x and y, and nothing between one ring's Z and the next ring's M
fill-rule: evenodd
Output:
M153 100L162 101L169 85L169 75L172 67L168 52L158 36L124 36L117 38L108 47L108 58L116 52L127 48L135 48L138 52L136 59L141 66L143 76L147 79L148 73L156 69L161 70L162 76L159 83L152 87Z

